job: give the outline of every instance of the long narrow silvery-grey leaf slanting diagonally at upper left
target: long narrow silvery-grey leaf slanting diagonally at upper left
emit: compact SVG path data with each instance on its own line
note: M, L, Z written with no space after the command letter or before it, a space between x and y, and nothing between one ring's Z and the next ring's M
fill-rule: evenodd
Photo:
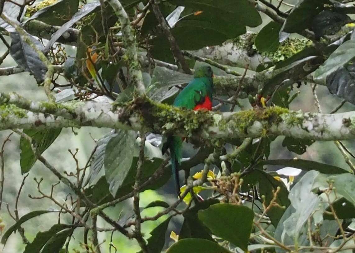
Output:
M49 40L47 45L44 48L44 51L47 52L49 48L59 39L59 37L68 29L70 28L73 24L78 22L80 19L83 17L89 15L91 12L93 12L95 9L98 10L100 6L100 2L91 2L86 5L84 5L82 8L80 8L73 16L72 18L63 24L53 35L52 38Z

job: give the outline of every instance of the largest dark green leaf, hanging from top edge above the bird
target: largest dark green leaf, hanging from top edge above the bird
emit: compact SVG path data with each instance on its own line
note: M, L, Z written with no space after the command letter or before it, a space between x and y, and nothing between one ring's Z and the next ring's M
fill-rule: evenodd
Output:
M199 15L182 18L171 29L182 50L198 50L204 46L218 45L246 33L245 26L256 27L262 23L253 4L247 0L170 0L176 6L185 6ZM174 63L169 43L163 34L152 41L154 58Z

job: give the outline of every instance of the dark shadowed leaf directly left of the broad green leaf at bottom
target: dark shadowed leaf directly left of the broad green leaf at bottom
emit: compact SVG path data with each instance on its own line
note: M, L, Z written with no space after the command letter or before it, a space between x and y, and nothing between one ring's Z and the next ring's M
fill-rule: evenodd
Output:
M184 222L181 226L179 240L185 238L201 238L214 241L211 237L211 231L198 219L197 212L217 203L219 203L219 201L213 199L198 202L194 207L184 212L184 214L182 214L184 216Z

